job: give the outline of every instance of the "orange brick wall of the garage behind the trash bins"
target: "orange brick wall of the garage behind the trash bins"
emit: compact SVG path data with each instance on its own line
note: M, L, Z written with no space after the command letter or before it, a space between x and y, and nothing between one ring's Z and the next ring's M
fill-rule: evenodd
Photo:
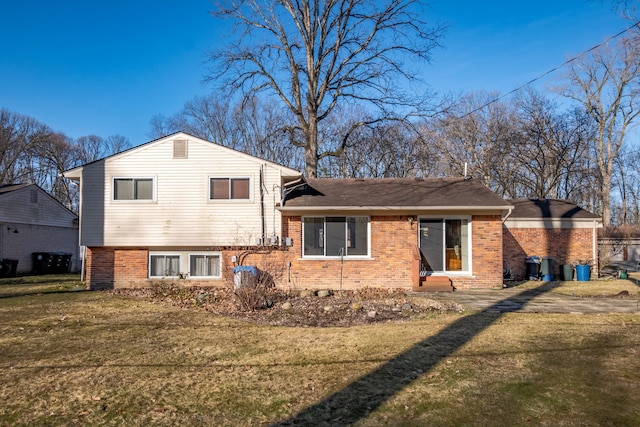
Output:
M591 228L506 228L503 237L504 258L516 278L526 273L529 256L553 258L554 276L559 278L560 266L593 259Z

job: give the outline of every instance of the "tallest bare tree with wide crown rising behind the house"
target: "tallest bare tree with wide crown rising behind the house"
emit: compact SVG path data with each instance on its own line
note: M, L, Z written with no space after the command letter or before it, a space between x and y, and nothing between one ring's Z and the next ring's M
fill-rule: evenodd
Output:
M315 177L318 161L339 156L360 126L424 112L428 99L410 84L442 28L427 26L422 7L420 0L221 1L213 15L230 19L238 39L212 52L209 78L231 92L275 95L295 117L282 128L304 148L305 174ZM321 122L345 104L366 106L369 118L323 150Z

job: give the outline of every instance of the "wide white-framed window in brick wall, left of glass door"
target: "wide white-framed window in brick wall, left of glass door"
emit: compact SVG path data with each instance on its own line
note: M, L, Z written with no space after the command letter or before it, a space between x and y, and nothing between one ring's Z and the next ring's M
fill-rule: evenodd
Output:
M303 256L369 255L366 216L305 217L303 228Z

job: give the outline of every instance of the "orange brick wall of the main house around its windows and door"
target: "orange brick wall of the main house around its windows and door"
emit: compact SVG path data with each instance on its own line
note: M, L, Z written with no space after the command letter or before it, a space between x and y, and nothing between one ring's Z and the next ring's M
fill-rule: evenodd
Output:
M283 288L357 289L361 287L411 289L412 247L417 244L418 223L406 215L371 217L371 259L302 259L301 217L283 218L283 236L291 247L207 248L222 254L223 278L189 279L189 285L231 283L234 263L255 265L273 276ZM473 271L471 277L452 276L458 288L495 287L502 283L502 222L500 216L472 218ZM190 248L196 250L196 248ZM204 250L204 248L200 248ZM89 248L87 281L91 289L149 286L148 250ZM177 279L167 279L177 280Z

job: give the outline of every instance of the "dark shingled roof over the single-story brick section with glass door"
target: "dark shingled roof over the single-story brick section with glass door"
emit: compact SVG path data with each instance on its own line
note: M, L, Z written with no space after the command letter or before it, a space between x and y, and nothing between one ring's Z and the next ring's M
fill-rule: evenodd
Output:
M371 178L309 179L293 189L284 210L323 207L499 208L510 203L473 179Z

